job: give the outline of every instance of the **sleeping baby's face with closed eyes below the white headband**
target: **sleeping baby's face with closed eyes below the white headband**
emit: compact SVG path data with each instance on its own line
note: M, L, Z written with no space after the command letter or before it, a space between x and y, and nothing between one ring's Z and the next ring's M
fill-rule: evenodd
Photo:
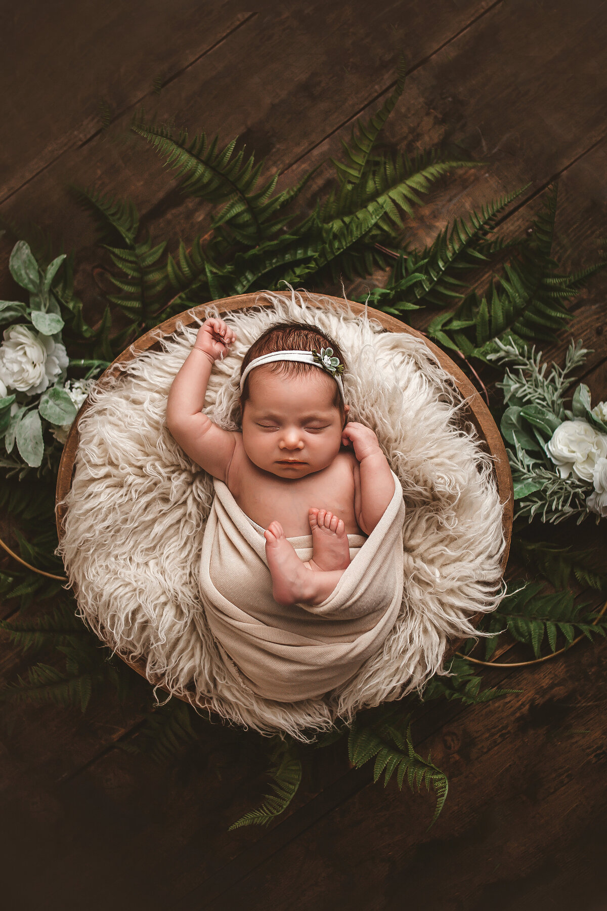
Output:
M320 370L303 375L257 367L248 376L242 442L251 462L286 478L328 467L339 453L342 422L335 381Z

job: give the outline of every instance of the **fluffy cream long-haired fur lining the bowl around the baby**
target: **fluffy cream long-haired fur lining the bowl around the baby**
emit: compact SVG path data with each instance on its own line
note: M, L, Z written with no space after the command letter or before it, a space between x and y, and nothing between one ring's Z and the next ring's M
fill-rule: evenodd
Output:
M266 292L258 302L270 306L224 316L238 341L215 365L205 412L237 429L240 361L270 323L314 323L339 341L350 418L377 433L407 507L404 597L383 647L322 700L263 700L225 670L197 589L212 479L165 425L167 394L197 327L180 325L162 351L139 355L93 389L60 550L83 619L119 654L145 660L149 681L233 722L305 740L420 689L440 672L448 639L475 634L472 615L502 596L502 508L491 458L462 425L450 375L419 339L319 295Z

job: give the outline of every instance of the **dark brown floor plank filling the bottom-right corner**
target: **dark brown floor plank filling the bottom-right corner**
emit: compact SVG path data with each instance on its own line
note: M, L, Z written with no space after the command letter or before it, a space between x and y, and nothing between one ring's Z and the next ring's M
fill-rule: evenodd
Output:
M607 756L595 733L607 699L601 682L606 660L604 648L583 646L558 663L546 662L531 685L529 672L513 673L511 685L524 689L511 697L513 710L472 708L425 742L422 752L431 747L451 782L448 803L429 833L427 795L405 790L399 796L393 783L385 791L369 785L238 885L226 868L217 901L207 902L203 885L180 909L238 907L245 900L253 908L268 902L293 909L396 908L404 890L408 900L437 911L456 907L454 900L471 908L495 900L504 888L512 897L528 897L551 868L563 870L561 883L571 888L568 858L580 863L581 875L592 872L579 844L588 844L584 833L601 825L607 807ZM584 800L589 792L591 805ZM593 885L599 877L595 870ZM558 898L554 887L551 896Z

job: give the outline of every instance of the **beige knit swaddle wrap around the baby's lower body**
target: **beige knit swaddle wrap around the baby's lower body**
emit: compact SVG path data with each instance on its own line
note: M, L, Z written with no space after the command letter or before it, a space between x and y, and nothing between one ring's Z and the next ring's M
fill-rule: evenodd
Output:
M349 535L349 567L315 607L272 597L266 540L228 487L215 480L200 561L200 595L226 665L250 690L279 702L314 699L347 681L392 629L403 589L399 478L369 537ZM312 537L290 537L298 558Z

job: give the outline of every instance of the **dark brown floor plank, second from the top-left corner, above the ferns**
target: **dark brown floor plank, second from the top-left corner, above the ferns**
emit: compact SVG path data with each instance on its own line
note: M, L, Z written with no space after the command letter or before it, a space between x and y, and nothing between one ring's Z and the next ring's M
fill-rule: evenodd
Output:
M172 118L191 131L204 127L224 141L240 135L258 156L268 155L271 173L378 97L394 79L401 47L414 67L491 6L490 0L464 0L455 7L450 0L431 5L385 0L370 19L364 0L330 11L320 0L264 7L160 96L150 92L141 103L148 115ZM56 239L61 230L67 247L82 247L94 232L67 185L98 182L148 212L153 231L175 240L187 227L194 236L203 220L200 206L190 202L179 208L181 198L155 153L128 132L132 113L85 147L66 151L5 200L3 218L17 224L33 220Z

